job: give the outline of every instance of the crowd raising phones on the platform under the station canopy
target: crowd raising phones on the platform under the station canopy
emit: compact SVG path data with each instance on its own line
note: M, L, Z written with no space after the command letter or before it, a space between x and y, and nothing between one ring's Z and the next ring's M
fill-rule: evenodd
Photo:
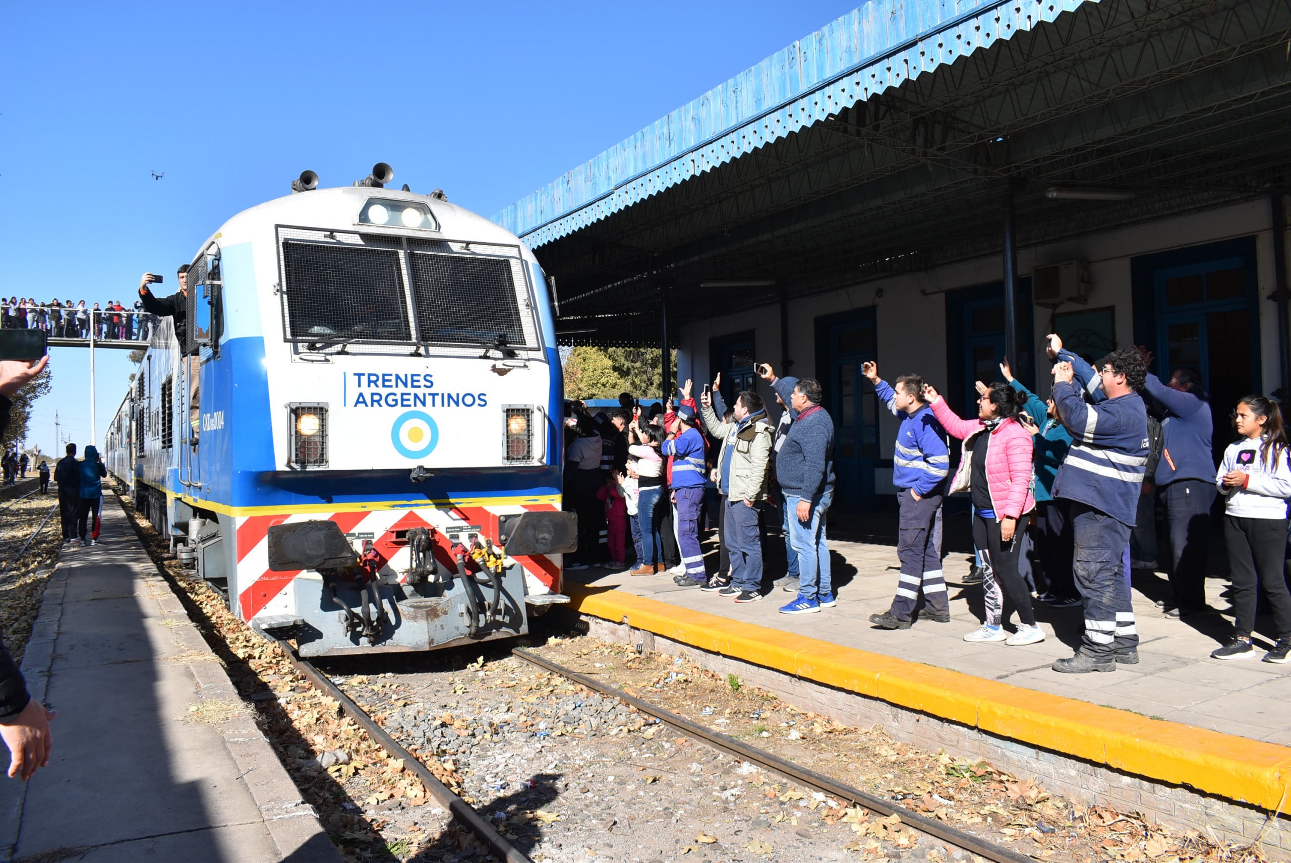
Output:
M1130 579L1132 559L1155 544L1154 505L1167 526L1174 594L1158 605L1170 618L1192 618L1216 612L1206 603L1205 577L1211 508L1223 495L1234 632L1211 656L1259 655L1251 634L1263 598L1277 636L1263 659L1291 660L1285 576L1291 448L1277 402L1263 395L1238 402L1238 439L1216 473L1211 404L1195 371L1175 369L1161 381L1148 371L1152 354L1143 348L1114 350L1091 366L1057 336L1048 336L1047 353L1053 360L1048 399L1016 380L1006 359L1004 382L977 382L971 419L955 415L919 375L888 384L877 363L862 366L878 399L900 420L892 473L900 574L891 605L870 623L909 629L917 621L950 621L944 504L966 494L976 562L962 581L981 585L984 611L964 641L1035 645L1044 639L1037 602L1082 606L1081 645L1053 671L1135 664ZM768 513L778 506L788 566L775 585L794 594L780 611L816 614L837 605L826 539L834 421L818 381L781 379L766 364L758 373L782 408L777 422L751 390L728 408L720 377L697 399L687 381L675 402L644 412L627 394L617 410L596 416L569 404L565 500L580 517L580 544L565 568L625 568L634 552L629 575L667 571L679 587L757 602L766 596ZM959 451L953 473L951 439ZM718 512L705 503L709 482ZM719 539L711 575L700 546L705 521ZM608 563L598 558L602 549Z

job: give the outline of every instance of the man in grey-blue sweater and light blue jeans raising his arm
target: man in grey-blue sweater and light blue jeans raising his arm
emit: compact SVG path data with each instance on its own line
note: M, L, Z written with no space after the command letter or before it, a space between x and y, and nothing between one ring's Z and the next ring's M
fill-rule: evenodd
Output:
M815 614L834 607L825 513L834 495L834 420L820 406L820 382L812 377L790 385L771 366L758 368L793 411L793 425L776 455L776 482L789 509L790 543L798 556L798 597L782 614Z

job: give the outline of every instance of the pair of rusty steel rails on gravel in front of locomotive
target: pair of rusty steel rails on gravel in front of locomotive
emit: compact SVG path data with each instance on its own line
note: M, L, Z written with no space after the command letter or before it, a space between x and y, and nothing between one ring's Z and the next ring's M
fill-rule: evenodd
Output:
M303 674L321 692L336 699L341 704L341 708L382 748L385 748L391 757L403 760L422 780L427 791L439 801L439 804L452 813L458 823L474 833L479 841L498 859L506 860L506 863L525 863L531 860L524 851L518 849L507 836L503 836L494 827L493 818L470 806L462 797L454 795L443 783L440 783L430 773L430 770L426 769L425 764L422 764L422 761L413 752L399 743L385 727L382 727L369 709L360 704L359 700L351 698L350 694L342 690L341 686L337 686L337 683L333 682L327 673L320 671L311 661L297 656L292 647L285 642L279 642L279 649L284 651L289 661L300 671L301 674ZM953 851L955 859L963 858L959 853L962 851L966 855L984 858L986 860L993 860L994 863L1028 863L1032 860L1032 858L1026 854L1021 854L999 842L993 842L989 838L958 829L946 823L941 823L911 809L900 806L891 800L878 797L831 776L806 769L771 752L751 747L733 736L713 731L704 725L678 716L675 712L665 707L636 698L613 686L608 686L594 680L593 677L589 677L587 674L578 673L571 668L554 663L550 659L540 656L533 651L515 649L511 655L532 668L559 676L573 686L586 690L589 694L595 694L603 696L604 699L613 699L627 708L639 712L640 714L652 717L657 721L658 727L666 726L676 734L684 735L686 738L711 749L715 753L731 756L738 760L738 762L744 765L745 770L747 770L751 765L760 771L778 775L789 783L799 785L816 795L816 797L824 796L825 798L837 800L848 807L864 809L866 813L877 818L887 819L887 823L889 824L895 816L900 819L901 826L911 828L923 837L936 840L948 849L958 849L958 851ZM624 758L624 770L633 769L630 762L631 758ZM613 779L613 776L611 776L611 779ZM698 805L702 806L702 804ZM609 822L607 822L607 824ZM927 847L927 845L924 845L924 847ZM755 858L757 855L750 857ZM922 859L923 854L918 857ZM698 857L696 859L698 859ZM777 855L776 859L782 858Z

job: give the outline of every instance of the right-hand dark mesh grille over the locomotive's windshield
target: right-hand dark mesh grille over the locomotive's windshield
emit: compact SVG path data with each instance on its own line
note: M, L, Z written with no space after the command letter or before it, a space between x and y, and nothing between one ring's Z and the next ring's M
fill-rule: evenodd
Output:
M510 260L413 252L408 261L420 341L525 345Z

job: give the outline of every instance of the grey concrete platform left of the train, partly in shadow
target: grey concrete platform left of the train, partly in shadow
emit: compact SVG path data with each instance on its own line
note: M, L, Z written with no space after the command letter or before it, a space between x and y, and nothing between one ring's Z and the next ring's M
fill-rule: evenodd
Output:
M115 497L63 549L23 658L58 711L31 782L0 779L0 859L336 863L340 854Z

